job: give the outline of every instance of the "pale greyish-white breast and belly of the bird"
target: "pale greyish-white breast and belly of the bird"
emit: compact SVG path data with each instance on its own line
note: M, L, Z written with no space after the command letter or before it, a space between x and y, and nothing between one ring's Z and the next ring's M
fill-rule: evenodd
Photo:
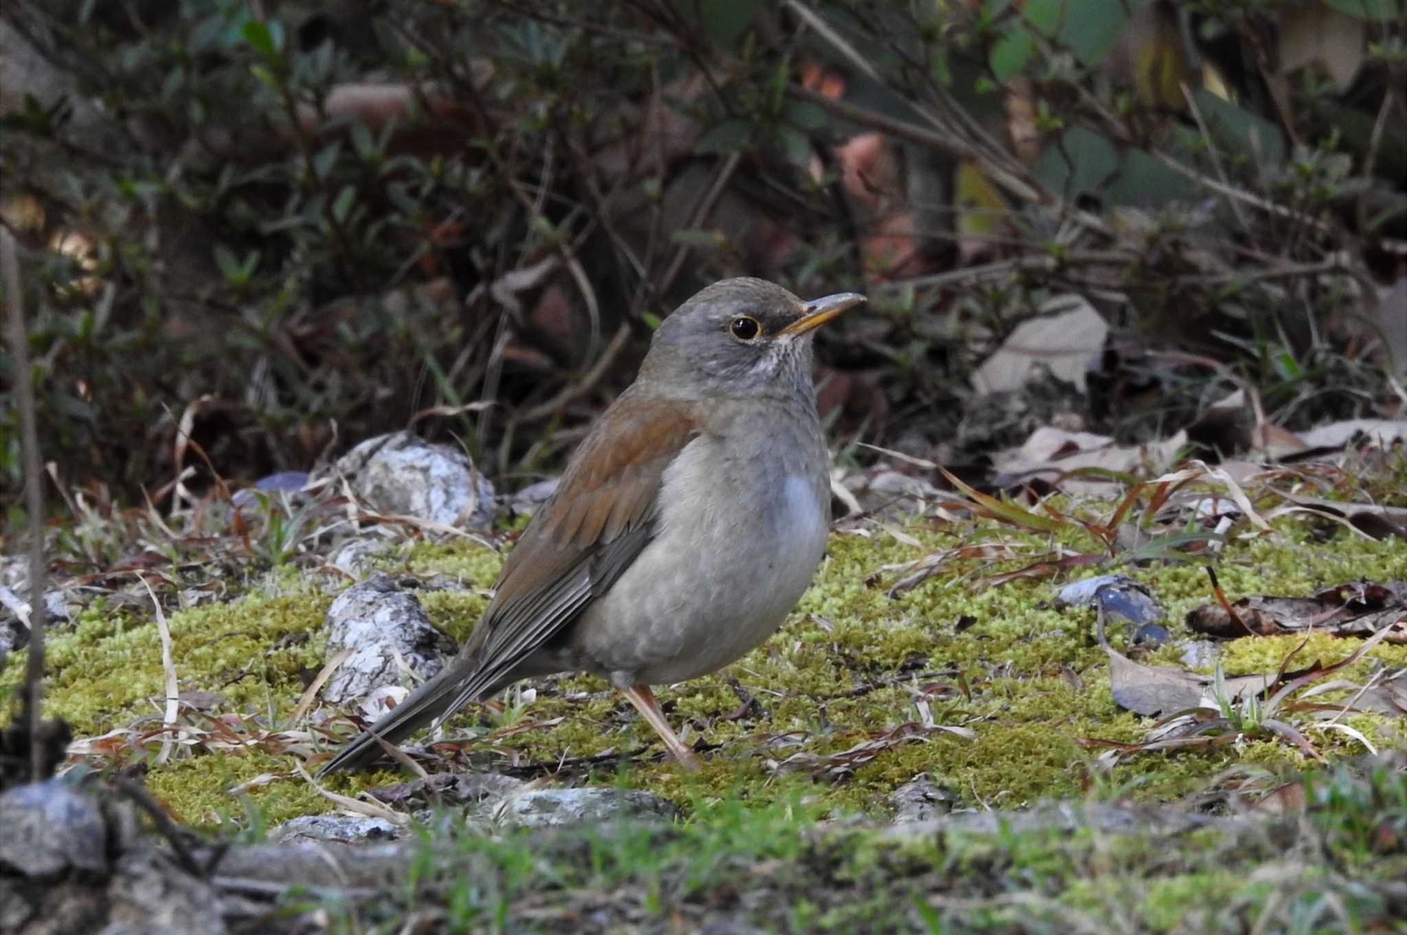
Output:
M581 668L618 685L680 682L782 624L825 553L829 494L823 478L779 467L763 484L702 482L719 461L702 446L681 454L664 478L660 533L574 627Z

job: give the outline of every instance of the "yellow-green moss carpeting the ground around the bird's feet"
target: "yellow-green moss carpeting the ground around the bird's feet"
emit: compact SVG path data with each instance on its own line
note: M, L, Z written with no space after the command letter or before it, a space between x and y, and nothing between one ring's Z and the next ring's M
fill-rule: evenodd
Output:
M658 756L660 747L629 706L591 676L539 681L536 697L523 703L509 695L502 711L473 709L456 718L449 741L470 741L474 768L540 763L543 770L564 759L606 749L646 748L591 778L575 780L626 783L677 801L736 796L772 800L779 787L802 783L808 796L836 813L882 813L882 800L896 786L927 773L969 804L1017 807L1037 799L1078 796L1090 782L1110 793L1144 800L1176 799L1202 787L1234 765L1272 770L1307 765L1297 749L1272 738L1210 751L1142 754L1093 776L1081 741L1137 741L1150 727L1120 710L1110 693L1109 666L1093 640L1092 614L1058 610L1052 598L1062 581L1016 579L978 586L983 574L1017 568L1051 543L1012 533L991 520L906 529L923 548L881 527L837 533L812 589L787 626L767 644L729 669L660 690L666 710L687 741L716 745L695 775ZM1071 536L1075 546L1078 531ZM913 591L891 599L886 588L896 572L886 567L910 562L924 550L947 550L978 540L1000 540L999 560L957 561ZM492 582L501 554L452 541L395 550L384 560L391 571L421 578L449 576L470 588L421 591L431 619L463 640L484 607L483 588ZM1233 539L1217 560L1228 595L1306 595L1317 588L1368 578L1386 581L1407 571L1401 541L1368 541L1346 533L1328 541L1303 523L1285 519L1275 534ZM1168 612L1173 636L1185 636L1182 619L1209 600L1202 564L1157 562L1124 568L1145 582ZM1083 574L1095 574L1079 572ZM250 738L245 748L218 752L201 744L179 751L172 762L153 765L148 783L176 814L194 823L243 823L248 813L277 823L297 814L332 808L294 769L279 731L307 731L290 723L298 696L322 665L321 624L332 599L328 578L284 572L267 575L257 589L231 600L169 613L176 672L183 692L214 692L222 700L189 721L210 728L222 718L234 733ZM1127 634L1114 628L1114 645ZM1223 650L1228 672L1273 672L1300 640L1245 638ZM1356 641L1314 636L1299 650L1297 665L1330 662ZM1407 665L1407 647L1379 645L1372 655ZM1176 650L1142 657L1176 665ZM1362 676L1363 659L1345 675ZM13 689L21 658L0 673L0 692ZM68 718L79 737L122 727L159 727L162 689L160 643L149 614L93 606L70 630L49 644L49 711ZM756 704L743 709L737 688ZM826 756L846 751L903 724L920 721L916 703L927 704L933 723L967 728L975 738L946 731L916 733L853 769L778 770L788 756ZM1401 723L1370 716L1346 720L1365 735L1390 742ZM1355 755L1362 747L1339 733L1314 733L1327 755ZM324 734L300 749L331 748ZM148 748L146 758L152 754ZM795 763L796 761L794 761ZM241 797L231 789L249 783ZM332 789L346 794L398 779L391 772L338 778ZM243 799L243 800L241 800Z

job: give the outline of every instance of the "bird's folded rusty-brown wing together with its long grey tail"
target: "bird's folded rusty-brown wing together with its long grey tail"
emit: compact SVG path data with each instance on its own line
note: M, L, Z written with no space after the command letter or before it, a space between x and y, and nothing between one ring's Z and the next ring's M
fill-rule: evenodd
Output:
M498 575L457 659L346 744L318 775L370 765L398 742L512 681L532 652L609 591L654 537L664 470L699 433L685 404L622 395L567 464Z

